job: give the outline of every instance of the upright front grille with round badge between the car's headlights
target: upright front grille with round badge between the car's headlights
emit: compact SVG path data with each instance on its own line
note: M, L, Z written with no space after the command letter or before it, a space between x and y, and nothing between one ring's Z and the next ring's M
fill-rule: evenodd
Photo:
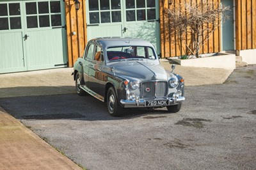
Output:
M166 97L167 82L150 81L141 84L141 98Z

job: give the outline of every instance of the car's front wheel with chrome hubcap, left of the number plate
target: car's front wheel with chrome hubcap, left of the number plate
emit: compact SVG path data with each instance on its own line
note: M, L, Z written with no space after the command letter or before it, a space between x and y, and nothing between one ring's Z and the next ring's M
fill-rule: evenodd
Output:
M115 89L113 87L108 89L107 95L108 112L111 116L120 116L124 109L118 104Z

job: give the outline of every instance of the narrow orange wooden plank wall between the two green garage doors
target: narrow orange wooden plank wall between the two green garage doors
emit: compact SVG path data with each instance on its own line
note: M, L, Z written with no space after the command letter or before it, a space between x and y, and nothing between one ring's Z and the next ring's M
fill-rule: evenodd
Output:
M86 46L85 1L80 1L80 9L76 11L73 0L65 0L68 66L74 66L76 59L83 56ZM73 35L72 32L76 32Z

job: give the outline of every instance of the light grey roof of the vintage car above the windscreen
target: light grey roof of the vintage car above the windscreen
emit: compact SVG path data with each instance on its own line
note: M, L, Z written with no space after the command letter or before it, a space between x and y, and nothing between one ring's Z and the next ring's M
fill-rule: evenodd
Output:
M152 43L145 40L140 40L138 38L130 37L100 37L90 40L90 42L99 43L102 48L108 47L120 47L120 46L147 46L154 47Z

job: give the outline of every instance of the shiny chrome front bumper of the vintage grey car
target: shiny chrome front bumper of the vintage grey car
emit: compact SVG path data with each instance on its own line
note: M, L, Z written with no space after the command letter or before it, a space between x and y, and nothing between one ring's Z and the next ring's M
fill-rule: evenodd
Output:
M157 98L155 100L168 100L169 105L175 105L179 104L181 102L184 102L185 97L172 97L172 98ZM148 107L146 106L146 101L145 99L138 99L138 100L120 100L120 103L124 105L124 107ZM150 100L152 101L152 100ZM163 105L165 106L165 105ZM154 106L149 106L149 107L154 107ZM156 107L161 107L161 105L156 105Z

